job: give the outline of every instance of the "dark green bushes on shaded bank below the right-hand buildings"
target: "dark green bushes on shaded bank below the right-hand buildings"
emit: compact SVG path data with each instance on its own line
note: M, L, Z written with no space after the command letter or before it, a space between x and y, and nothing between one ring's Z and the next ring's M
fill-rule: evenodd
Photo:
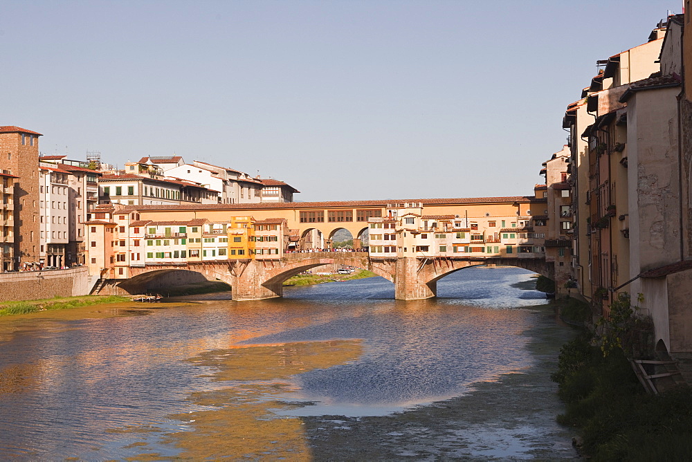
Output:
M597 461L688 460L691 389L648 395L623 349L602 347L602 337L585 331L561 349L552 375L566 405L558 423L579 427L581 450Z

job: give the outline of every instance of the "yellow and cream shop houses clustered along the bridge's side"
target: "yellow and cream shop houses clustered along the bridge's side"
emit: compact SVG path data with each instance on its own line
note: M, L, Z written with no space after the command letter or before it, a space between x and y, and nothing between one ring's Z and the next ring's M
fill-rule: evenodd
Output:
M373 258L541 257L541 233L531 216L426 215L422 203L388 205L385 216L368 219L370 246L358 250ZM127 279L129 268L185 265L199 261L279 259L287 252L325 248L315 230L291 229L286 219L255 220L229 216L154 221L132 207L99 205L84 223L89 273L102 279ZM174 216L173 216L174 218Z

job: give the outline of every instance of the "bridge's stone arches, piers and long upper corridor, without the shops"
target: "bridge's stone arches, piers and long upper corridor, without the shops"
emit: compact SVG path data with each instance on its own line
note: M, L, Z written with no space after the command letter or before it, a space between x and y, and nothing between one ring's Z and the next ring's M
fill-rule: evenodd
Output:
M212 205L125 205L116 206L113 219L119 214L127 216L136 212L138 221L192 221L207 219L223 222L232 216L253 216L256 221L286 219L288 228L299 230L301 239L307 233L318 230L325 237L325 248L331 247L331 239L341 229L354 237L354 247L367 232L368 219L385 217L394 201L344 201L319 203L260 203L260 204L212 204ZM405 201L396 201L403 203ZM198 272L207 279L219 279L230 284L233 299L251 300L280 297L286 279L300 272L327 264L340 264L363 268L385 277L394 283L397 299L424 299L435 297L437 281L456 270L478 265L518 266L553 277L552 264L547 264L540 254L498 252L498 234L516 227L516 231L530 230L532 214L543 214L545 200L533 196L423 199L424 216L463 217L464 223L483 236L483 242L472 246L495 249L487 255L471 254L446 256L376 256L369 252L296 252L282 253L262 259L228 259L216 261L186 261L185 263L145 264L129 266L126 278L116 278L97 288L111 293L143 293L158 277L170 278L181 270ZM531 210L531 207L534 210ZM501 224L500 224L501 223ZM493 232L493 229L495 232ZM431 231L432 232L432 231ZM472 232L473 234L473 232ZM472 237L473 239L473 237ZM541 239L543 241L543 239ZM541 242L542 243L542 242ZM535 242L534 244L541 244ZM415 254L413 254L415 255ZM176 273L177 272L177 273ZM106 281L103 281L106 282Z

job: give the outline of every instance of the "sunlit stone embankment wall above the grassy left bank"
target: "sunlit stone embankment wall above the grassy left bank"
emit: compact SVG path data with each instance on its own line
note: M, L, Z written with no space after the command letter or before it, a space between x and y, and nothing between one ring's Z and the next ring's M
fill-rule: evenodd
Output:
M69 270L0 274L0 302L88 295L91 278L86 266Z

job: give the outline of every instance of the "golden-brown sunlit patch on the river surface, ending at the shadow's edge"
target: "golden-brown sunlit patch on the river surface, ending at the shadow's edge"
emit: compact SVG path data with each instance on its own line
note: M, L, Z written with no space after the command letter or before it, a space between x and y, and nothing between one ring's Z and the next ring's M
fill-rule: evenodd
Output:
M361 340L250 345L201 353L195 364L217 369L215 380L233 383L192 396L194 403L217 409L172 416L194 427L192 432L172 435L183 450L179 456L311 459L301 419L274 414L292 407L279 400L280 394L293 391L282 379L345 364L362 353Z

